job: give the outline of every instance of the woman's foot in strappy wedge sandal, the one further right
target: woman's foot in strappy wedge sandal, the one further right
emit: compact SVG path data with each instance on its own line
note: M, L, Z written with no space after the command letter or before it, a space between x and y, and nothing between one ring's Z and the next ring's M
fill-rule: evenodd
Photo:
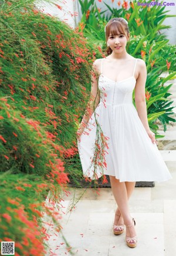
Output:
M128 247L134 248L137 245L137 235L134 226L136 222L133 218L133 222L129 225L126 225L126 242Z

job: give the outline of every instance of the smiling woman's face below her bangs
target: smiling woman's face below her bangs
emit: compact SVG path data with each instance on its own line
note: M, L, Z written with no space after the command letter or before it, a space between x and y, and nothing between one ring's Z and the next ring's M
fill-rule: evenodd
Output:
M107 39L107 44L109 44L110 48L113 52L118 53L126 49L127 38L124 34L119 35L109 35ZM119 46L119 47L118 47Z

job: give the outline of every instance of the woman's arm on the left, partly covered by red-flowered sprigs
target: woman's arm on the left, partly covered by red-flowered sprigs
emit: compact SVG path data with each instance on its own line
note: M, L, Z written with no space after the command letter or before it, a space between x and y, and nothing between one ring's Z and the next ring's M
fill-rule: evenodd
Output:
M94 109L96 109L97 105L100 102L100 90L98 88L98 73L99 73L99 59L94 60L92 71L91 71L91 79L92 79L92 87L90 92L90 99L87 103L86 112L83 116L82 122L80 123L79 130L82 132L84 127L86 127L87 123L89 122L90 117Z

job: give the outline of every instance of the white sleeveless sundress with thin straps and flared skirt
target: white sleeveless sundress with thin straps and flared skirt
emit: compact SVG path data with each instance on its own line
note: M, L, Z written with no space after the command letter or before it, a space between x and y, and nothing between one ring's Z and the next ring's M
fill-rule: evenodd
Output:
M133 105L132 96L136 85L134 72L133 76L119 82L114 82L101 73L98 85L100 103L95 110L96 119L104 136L109 137L109 149L106 149L107 169L104 168L102 173L97 168L97 176L107 174L116 176L120 181L160 182L172 178L157 145L151 142ZM80 142L77 140L84 177L94 178L93 166L91 169L89 166L94 155L95 139L96 123L93 113Z

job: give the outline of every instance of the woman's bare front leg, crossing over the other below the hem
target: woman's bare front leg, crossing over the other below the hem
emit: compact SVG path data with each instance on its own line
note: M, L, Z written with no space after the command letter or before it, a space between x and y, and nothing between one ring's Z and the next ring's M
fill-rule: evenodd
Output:
M128 208L127 189L128 189L129 195L131 195L131 193L133 192L133 189L134 189L134 184L132 186L132 184L120 182L114 176L109 176L109 177L110 177L110 183L111 183L111 190L113 192L117 206L119 207L121 215L123 216L124 223L126 225L129 225L132 222L132 217L130 215L130 211ZM126 235L127 236L131 235L131 237L134 237L136 235L135 229L133 229L133 230L131 229L130 231L131 231L131 233L129 232L129 230L127 228Z

